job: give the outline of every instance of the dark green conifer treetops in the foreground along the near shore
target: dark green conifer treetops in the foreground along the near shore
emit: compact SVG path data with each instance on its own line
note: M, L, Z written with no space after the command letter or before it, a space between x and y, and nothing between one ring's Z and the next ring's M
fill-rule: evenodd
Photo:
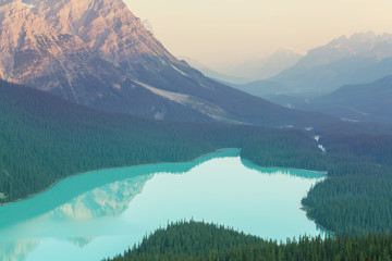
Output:
M299 237L285 243L265 240L231 228L200 222L177 222L159 228L122 256L133 260L391 260L392 235L334 238Z

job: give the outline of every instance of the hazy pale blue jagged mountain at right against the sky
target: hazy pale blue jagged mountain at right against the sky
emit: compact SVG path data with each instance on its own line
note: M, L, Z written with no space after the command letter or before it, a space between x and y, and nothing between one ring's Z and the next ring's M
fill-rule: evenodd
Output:
M259 97L315 97L343 85L369 83L389 74L392 74L392 35L369 32L350 38L342 36L310 50L294 66L274 77L236 88Z

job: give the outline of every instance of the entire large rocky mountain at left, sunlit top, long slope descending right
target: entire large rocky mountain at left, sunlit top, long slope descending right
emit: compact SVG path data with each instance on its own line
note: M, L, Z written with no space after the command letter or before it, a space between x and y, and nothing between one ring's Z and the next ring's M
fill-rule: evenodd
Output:
M157 120L307 125L174 58L121 0L2 0L0 77Z

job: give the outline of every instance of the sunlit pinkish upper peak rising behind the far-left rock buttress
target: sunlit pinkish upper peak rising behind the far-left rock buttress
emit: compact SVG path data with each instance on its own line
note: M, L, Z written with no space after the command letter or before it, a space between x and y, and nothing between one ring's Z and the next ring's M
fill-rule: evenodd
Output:
M32 11L62 34L83 39L100 58L130 67L146 55L175 61L122 0L27 0Z

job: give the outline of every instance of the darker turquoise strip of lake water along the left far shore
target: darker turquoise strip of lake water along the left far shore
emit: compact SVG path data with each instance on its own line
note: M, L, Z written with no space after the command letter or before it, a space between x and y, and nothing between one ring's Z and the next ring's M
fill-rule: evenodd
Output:
M33 217L40 216L49 211L70 202L79 195L99 188L110 183L124 181L130 177L144 176L155 173L181 174L191 171L193 167L211 159L236 157L237 149L220 150L185 163L160 163L139 166L109 169L93 171L83 175L65 178L51 189L36 195L28 200L17 201L12 204L0 207L0 229L9 227Z

